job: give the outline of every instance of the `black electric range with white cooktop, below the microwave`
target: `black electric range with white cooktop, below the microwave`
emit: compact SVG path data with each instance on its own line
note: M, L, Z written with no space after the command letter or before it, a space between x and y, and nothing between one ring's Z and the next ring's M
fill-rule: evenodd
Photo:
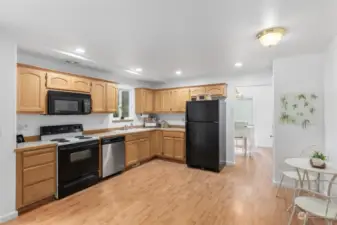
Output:
M83 136L82 124L40 127L40 139L57 143L57 199L98 183L99 140Z

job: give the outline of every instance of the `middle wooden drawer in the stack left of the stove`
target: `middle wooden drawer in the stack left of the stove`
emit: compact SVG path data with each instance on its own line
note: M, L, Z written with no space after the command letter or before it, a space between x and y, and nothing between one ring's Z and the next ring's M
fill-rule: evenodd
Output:
M55 177L55 163L49 163L23 170L23 186Z

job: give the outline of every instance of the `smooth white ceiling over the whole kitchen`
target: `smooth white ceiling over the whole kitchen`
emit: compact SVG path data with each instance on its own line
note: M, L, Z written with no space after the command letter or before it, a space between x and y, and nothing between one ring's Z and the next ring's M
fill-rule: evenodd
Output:
M323 51L336 12L336 0L2 0L0 32L28 51L65 59L53 50L83 47L82 65L166 81L271 71L275 58ZM289 33L263 48L255 35L271 26ZM124 72L136 67L142 75Z

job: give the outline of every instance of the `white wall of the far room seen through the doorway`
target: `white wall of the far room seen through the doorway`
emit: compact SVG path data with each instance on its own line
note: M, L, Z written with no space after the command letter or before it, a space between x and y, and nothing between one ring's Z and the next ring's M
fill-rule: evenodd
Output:
M274 97L271 85L237 87L244 97L253 98L255 142L258 147L273 146Z

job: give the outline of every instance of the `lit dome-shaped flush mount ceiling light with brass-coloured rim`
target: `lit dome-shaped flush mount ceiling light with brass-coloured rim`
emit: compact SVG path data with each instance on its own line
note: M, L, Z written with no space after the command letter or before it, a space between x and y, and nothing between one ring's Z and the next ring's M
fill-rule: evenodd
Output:
M272 27L260 31L256 37L264 47L271 47L277 45L286 33L283 27Z

